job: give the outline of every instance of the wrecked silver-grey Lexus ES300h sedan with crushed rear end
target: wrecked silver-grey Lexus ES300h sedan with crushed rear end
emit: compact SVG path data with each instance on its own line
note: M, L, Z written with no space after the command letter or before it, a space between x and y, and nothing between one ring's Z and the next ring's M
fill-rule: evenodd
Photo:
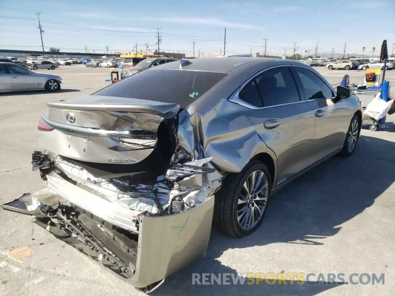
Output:
M181 60L47 103L32 154L47 188L2 208L149 292L205 255L212 221L254 232L272 193L353 153L359 99L270 58Z

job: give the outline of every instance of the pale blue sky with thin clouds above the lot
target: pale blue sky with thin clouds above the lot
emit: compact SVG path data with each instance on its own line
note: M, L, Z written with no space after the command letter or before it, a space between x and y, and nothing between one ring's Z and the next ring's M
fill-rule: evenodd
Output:
M395 0L347 1L280 0L242 2L238 0L201 1L103 1L35 0L0 1L0 48L40 50L40 32L36 11L41 12L44 47L64 51L104 52L157 48L156 28L160 27L161 50L192 55L263 52L267 38L268 54L299 53L371 54L380 51L388 40L389 54L395 43ZM138 3L122 4L122 3ZM387 11L384 13L383 11ZM378 17L376 26L368 17ZM381 17L385 15L386 17ZM373 21L374 23L374 21ZM379 26L382 28L380 29ZM286 48L286 49L285 49Z

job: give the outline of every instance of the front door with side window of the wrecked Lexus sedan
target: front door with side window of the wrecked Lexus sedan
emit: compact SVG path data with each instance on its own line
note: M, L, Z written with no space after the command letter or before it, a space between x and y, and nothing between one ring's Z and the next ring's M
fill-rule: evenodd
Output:
M344 99L335 100L334 90L314 71L305 67L292 67L292 71L305 101L314 110L316 130L310 157L312 165L342 146L351 111Z

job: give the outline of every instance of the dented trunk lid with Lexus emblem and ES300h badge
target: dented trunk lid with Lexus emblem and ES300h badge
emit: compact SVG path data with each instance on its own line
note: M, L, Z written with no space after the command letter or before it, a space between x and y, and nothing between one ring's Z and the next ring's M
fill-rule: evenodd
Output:
M174 152L178 104L91 95L47 105L41 148L80 165L124 174Z

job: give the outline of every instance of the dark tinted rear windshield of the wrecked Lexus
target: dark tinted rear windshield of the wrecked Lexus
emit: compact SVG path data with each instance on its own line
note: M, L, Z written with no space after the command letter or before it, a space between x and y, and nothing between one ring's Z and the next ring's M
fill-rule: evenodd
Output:
M226 75L227 73L206 71L147 69L121 79L92 95L176 103L185 108Z

